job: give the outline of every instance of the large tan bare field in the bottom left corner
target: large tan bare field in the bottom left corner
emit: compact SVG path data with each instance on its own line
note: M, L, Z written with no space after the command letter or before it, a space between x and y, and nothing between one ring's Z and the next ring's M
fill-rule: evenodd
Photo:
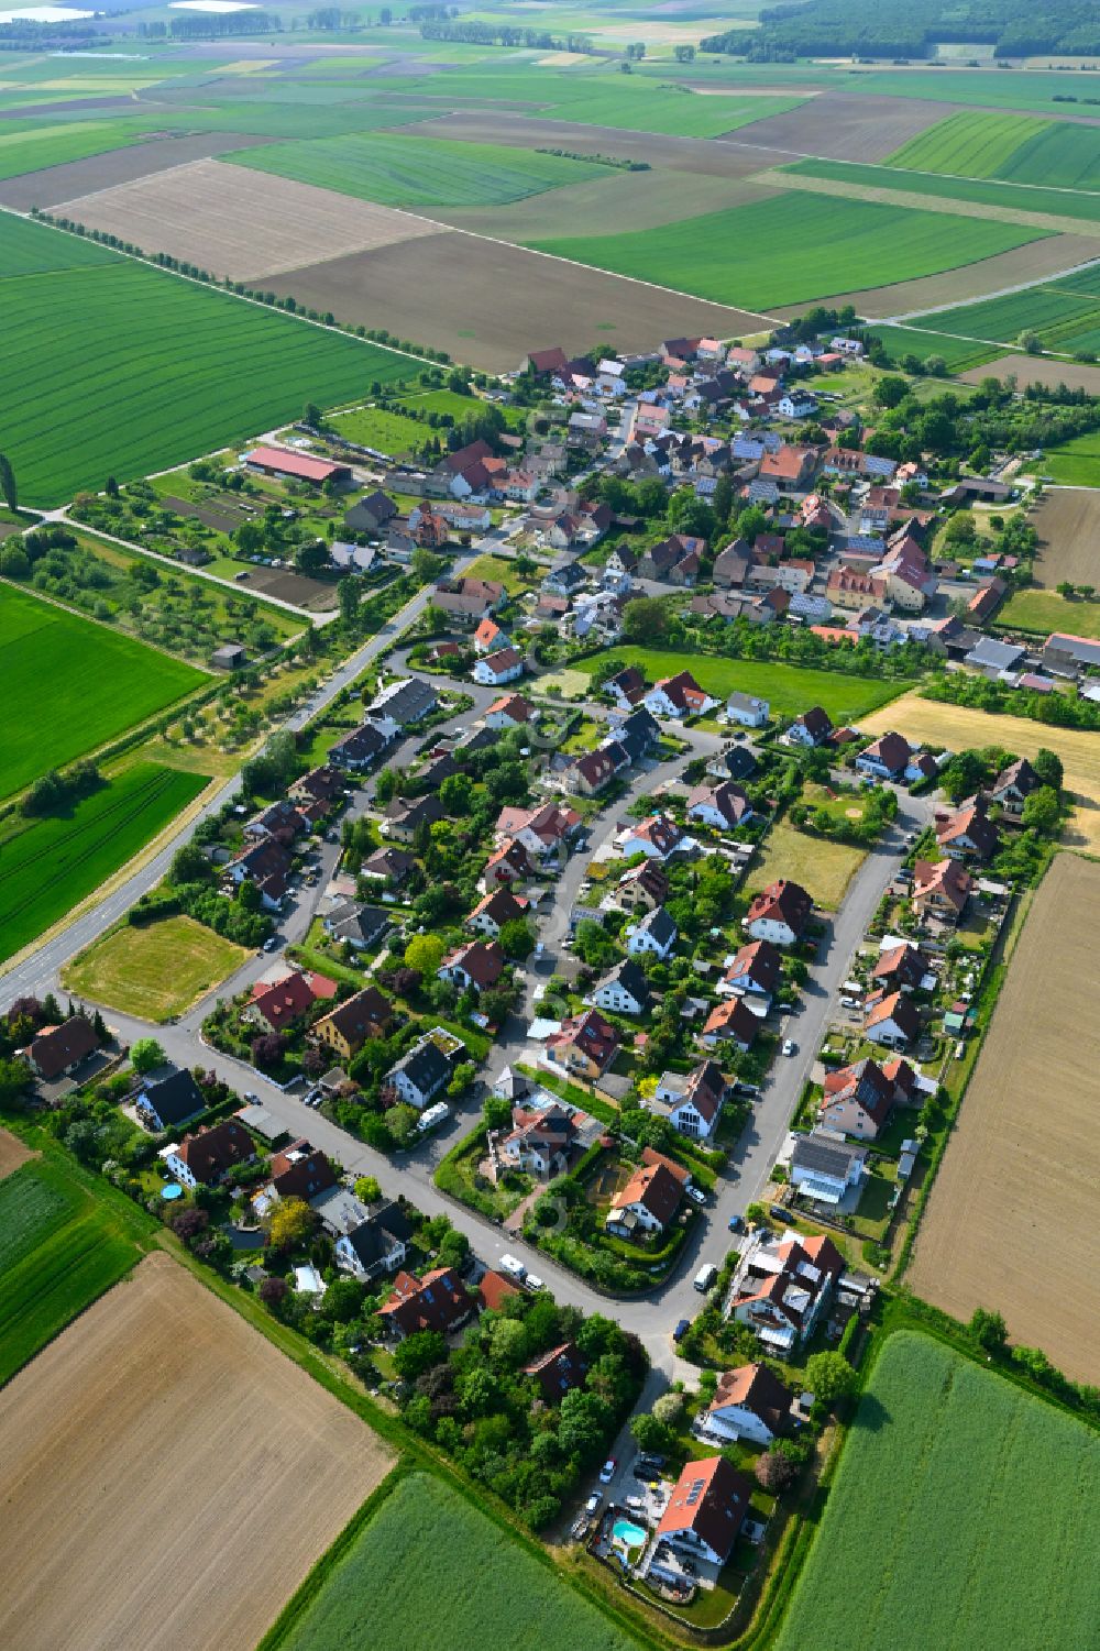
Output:
M253 1651L390 1466L167 1255L5 1398L0 1639L20 1651Z

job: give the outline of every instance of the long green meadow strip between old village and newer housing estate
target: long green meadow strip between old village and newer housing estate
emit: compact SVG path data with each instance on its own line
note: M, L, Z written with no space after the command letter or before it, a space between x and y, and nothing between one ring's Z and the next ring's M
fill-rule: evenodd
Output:
M889 705L907 687L903 682L852 677L842 670L813 670L785 665L781 660L677 654L666 647L616 647L614 657L623 665L638 665L651 682L674 677L677 670L690 670L699 687L715 698L725 700L733 692L758 695L770 702L771 717L778 721L798 717L811 705L821 705L837 725L854 721ZM600 664L600 659L585 659L578 660L576 669L593 675Z

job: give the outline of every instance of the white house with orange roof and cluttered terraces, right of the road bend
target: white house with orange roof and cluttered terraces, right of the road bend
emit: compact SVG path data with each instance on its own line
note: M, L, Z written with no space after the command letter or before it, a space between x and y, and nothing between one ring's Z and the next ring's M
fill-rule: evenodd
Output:
M831 1238L768 1238L750 1245L733 1275L727 1314L780 1355L808 1341L844 1260Z

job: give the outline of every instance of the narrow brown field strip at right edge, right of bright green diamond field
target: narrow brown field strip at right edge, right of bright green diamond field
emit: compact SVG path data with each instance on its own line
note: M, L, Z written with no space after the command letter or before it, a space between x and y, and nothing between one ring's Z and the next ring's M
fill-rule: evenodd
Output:
M861 315L870 320L925 320L935 327L932 310L968 299L981 299L991 292L1006 292L1031 281L1059 276L1075 264L1085 264L1097 256L1097 243L1083 234L1050 234L1009 253L996 253L979 263L941 276L920 276L915 281L897 281L889 287L864 287L861 291L834 292L823 304L854 304ZM801 315L804 305L776 310L776 315Z

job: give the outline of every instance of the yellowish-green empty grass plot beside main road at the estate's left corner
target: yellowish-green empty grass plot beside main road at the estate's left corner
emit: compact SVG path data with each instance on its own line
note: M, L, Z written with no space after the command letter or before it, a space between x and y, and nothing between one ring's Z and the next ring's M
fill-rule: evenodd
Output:
M144 1020L168 1020L238 969L248 953L188 916L106 934L64 969L64 987Z

